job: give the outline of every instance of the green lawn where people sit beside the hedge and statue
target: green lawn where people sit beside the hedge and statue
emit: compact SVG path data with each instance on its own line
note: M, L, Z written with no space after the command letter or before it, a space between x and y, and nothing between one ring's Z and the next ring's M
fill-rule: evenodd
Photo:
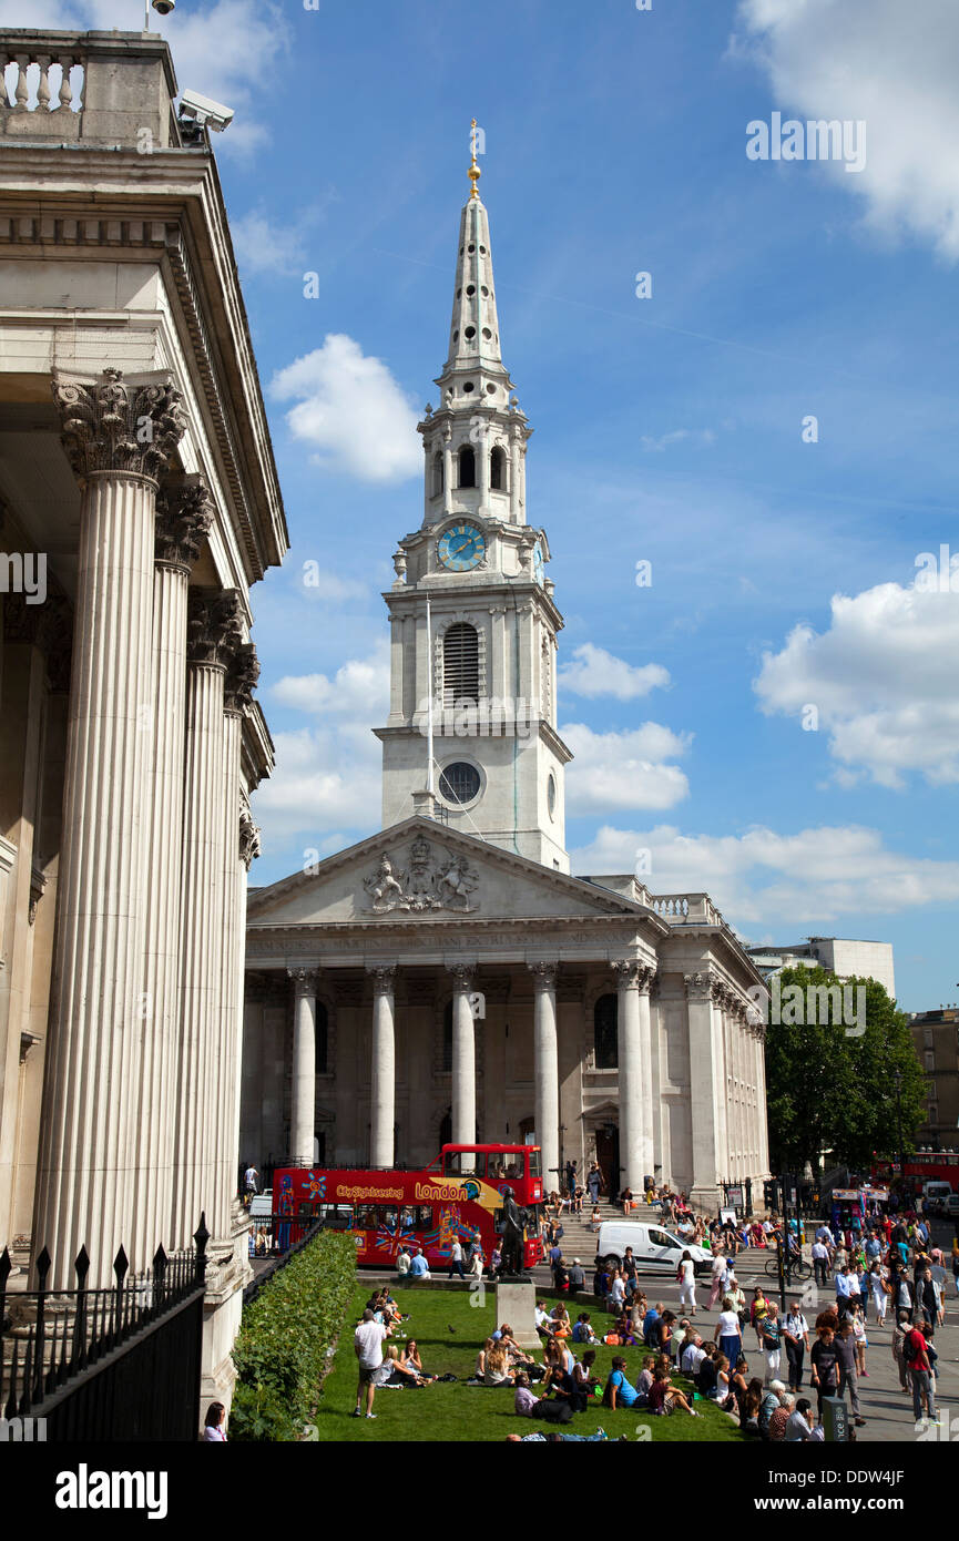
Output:
M517 1418L513 1413L513 1398L509 1390L493 1390L489 1387L464 1385L467 1376L473 1373L476 1353L489 1333L495 1328L493 1302L495 1290L486 1291L486 1305L470 1307L466 1290L393 1290L401 1311L410 1313L410 1321L404 1324L409 1336L419 1345L419 1356L429 1375L444 1375L450 1370L458 1381L438 1382L424 1390L378 1390L373 1412L375 1422L365 1418L352 1418L356 1405L356 1355L353 1353L353 1325L359 1321L362 1307L370 1294L372 1285L359 1282L353 1294L352 1313L344 1324L339 1338L333 1367L324 1381L324 1395L316 1413L318 1439L356 1439L356 1441L429 1441L429 1439L506 1439L509 1433L547 1433L550 1424L537 1419ZM555 1299L549 1290L538 1291L538 1299ZM597 1335L604 1330L606 1316L586 1299L583 1308L591 1311ZM575 1311L572 1316L575 1319ZM455 1331L450 1331L455 1327ZM399 1342L399 1339L396 1339ZM574 1348L577 1358L581 1350ZM635 1381L643 1368L644 1350L640 1348L607 1348L597 1350L595 1373L601 1381L609 1373L614 1353L623 1353L629 1368L629 1378ZM541 1359L541 1355L537 1355ZM675 1384L686 1395L691 1387L675 1378ZM537 1387L533 1385L533 1392ZM626 1435L637 1438L637 1425L646 1424L654 1441L742 1441L735 1424L720 1413L709 1402L697 1401L697 1412L702 1418L689 1418L686 1413L674 1413L671 1418L652 1418L643 1408L620 1408L612 1413L598 1401L587 1412L577 1413L572 1424L561 1424L560 1430L569 1433L594 1433L604 1429L611 1439ZM643 1433L643 1438L649 1438Z

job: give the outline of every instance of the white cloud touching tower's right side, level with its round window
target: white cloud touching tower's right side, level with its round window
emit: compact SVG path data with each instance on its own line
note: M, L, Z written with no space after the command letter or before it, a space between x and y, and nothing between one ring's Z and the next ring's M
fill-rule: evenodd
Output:
M594 734L567 723L561 735L575 760L566 772L566 807L572 817L617 807L672 807L689 794L689 781L668 761L685 755L691 734L643 723L624 734Z

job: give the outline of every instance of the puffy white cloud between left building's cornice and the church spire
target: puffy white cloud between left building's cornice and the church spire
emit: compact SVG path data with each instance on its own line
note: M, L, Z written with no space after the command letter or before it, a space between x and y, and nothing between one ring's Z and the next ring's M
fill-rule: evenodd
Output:
M413 407L382 359L367 358L353 337L330 333L322 348L273 376L271 394L299 398L287 424L321 452L319 464L368 482L422 472Z

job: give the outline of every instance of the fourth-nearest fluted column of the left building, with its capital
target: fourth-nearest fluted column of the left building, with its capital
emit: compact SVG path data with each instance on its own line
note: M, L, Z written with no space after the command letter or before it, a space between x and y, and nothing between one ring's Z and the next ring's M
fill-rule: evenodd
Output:
M241 852L242 792L241 741L244 717L253 701L259 678L259 663L253 643L242 643L233 652L224 678L224 943L220 957L220 1032L216 1057L214 1103L211 1125L216 1130L213 1216L207 1228L213 1237L230 1230L230 1211L236 1199L239 1176L239 1089L244 1025L244 954L247 917L247 871ZM248 811L247 811L248 817ZM313 1142L310 1140L310 1151Z

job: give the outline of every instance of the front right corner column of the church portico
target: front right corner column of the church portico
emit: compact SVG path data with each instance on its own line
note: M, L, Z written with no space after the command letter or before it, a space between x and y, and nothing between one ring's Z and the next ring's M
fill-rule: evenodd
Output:
M649 989L655 971L635 959L617 959L617 1048L620 1062L620 1167L623 1187L643 1191L652 1176L652 1040ZM618 1187L618 1176L614 1173Z

